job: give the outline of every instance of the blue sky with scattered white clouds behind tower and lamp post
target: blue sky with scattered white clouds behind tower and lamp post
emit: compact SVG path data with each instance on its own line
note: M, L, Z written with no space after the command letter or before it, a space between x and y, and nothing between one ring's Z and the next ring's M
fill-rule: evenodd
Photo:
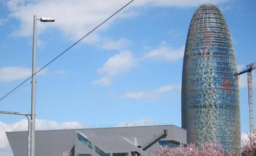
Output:
M31 75L33 15L56 20L37 23L40 68L128 2L0 0L0 96ZM238 68L255 62L254 1L135 0L37 76L38 129L144 121L181 126L184 45L194 11L205 3L222 10ZM241 133L247 133L246 75L239 83ZM0 110L30 112L30 103L27 84L0 101ZM0 153L9 152L3 132L26 129L24 119L0 114Z

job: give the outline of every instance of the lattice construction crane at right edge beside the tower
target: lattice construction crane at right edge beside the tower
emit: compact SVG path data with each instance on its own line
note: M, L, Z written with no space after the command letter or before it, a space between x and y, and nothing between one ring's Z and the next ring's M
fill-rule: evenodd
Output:
M256 69L256 62L248 64L245 68L234 74L239 76L243 73L247 73L248 80L248 101L249 101L249 124L250 124L250 135L255 135L254 129L254 111L253 111L253 92L252 92L252 70Z

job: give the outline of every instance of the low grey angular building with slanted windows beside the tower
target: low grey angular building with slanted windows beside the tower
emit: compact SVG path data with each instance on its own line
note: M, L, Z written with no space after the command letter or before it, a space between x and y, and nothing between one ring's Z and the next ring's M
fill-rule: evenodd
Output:
M28 132L6 132L14 156L27 155ZM126 156L154 153L159 146L187 144L187 132L174 125L36 131L36 155Z

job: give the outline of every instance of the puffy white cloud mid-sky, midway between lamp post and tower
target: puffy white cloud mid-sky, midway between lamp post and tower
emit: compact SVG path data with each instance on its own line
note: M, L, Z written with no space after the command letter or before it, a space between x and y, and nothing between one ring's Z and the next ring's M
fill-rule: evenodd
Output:
M99 74L103 77L99 80L92 82L93 84L109 85L113 77L125 73L132 68L136 67L136 60L131 51L126 50L109 58L103 67L98 69Z

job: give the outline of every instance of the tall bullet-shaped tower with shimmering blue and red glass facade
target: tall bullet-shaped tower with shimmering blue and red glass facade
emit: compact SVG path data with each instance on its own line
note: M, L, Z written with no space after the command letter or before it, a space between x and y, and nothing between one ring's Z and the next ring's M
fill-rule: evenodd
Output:
M234 49L222 12L202 5L191 20L182 71L182 128L188 143L219 141L240 150L240 102Z

